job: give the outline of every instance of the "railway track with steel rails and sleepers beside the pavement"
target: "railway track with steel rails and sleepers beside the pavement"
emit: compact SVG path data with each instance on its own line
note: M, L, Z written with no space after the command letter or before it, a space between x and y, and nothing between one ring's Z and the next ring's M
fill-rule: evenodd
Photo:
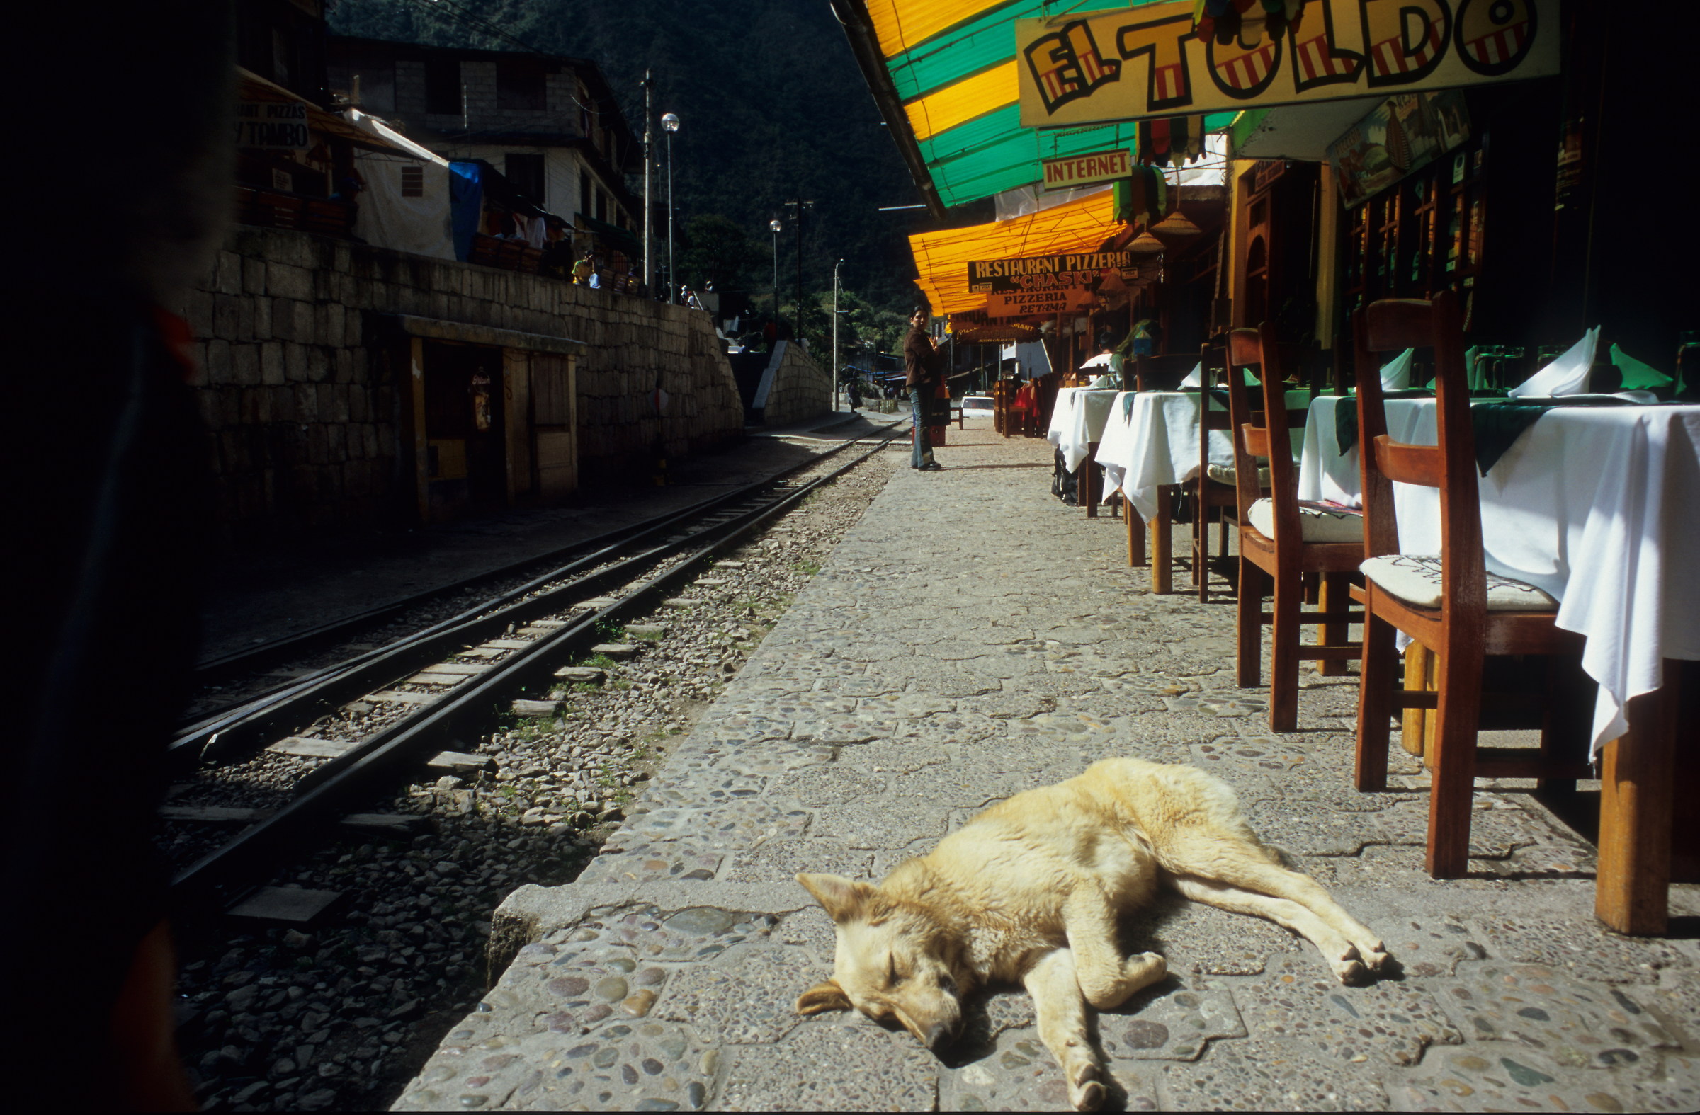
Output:
M876 439L850 439L774 478L707 500L683 512L638 524L575 547L561 566L508 583L479 603L428 622L384 646L357 649L301 676L248 692L240 700L184 724L168 755L178 772L264 760L277 794L272 807L168 802L163 816L177 824L245 824L216 841L172 880L178 906L218 908L241 894L248 880L313 843L338 823L366 828L406 824L416 818L354 814L350 807L381 795L398 773L434 761L462 773L481 756L442 748L457 734L476 733L502 716L549 714L549 702L515 702L515 695L580 680L563 663L583 658L631 617L653 610L699 576L714 558L740 546L751 532L802 501L819 486L848 473L904 430ZM797 473L821 464L857 444L872 447L809 479ZM796 478L796 479L792 479ZM554 556L551 556L554 558ZM525 563L536 568L541 559ZM547 564L547 563L546 563ZM479 578L513 580L522 568ZM445 591L423 595L439 602ZM415 598L411 603L418 603ZM206 676L253 671L280 654L345 642L374 622L393 622L400 605L374 608L354 620L291 636L241 656L207 663ZM583 668L578 668L583 670ZM301 736L294 726L311 724L338 709L366 712L352 739ZM338 733L330 731L330 736ZM435 756L435 758L434 758Z

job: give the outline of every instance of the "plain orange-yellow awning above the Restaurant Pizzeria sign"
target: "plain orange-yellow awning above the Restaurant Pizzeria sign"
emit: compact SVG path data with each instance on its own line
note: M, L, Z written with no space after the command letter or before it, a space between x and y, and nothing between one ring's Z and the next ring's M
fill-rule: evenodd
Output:
M1013 221L993 221L910 236L921 291L935 314L984 309L986 296L967 289L972 260L1091 252L1120 231L1110 190Z

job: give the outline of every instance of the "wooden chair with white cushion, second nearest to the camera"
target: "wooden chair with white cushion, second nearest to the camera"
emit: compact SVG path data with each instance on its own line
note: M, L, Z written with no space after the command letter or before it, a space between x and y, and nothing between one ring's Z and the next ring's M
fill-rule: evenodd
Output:
M1236 333L1251 330L1236 330ZM1265 323L1256 364L1263 379L1261 413L1250 410L1241 376L1227 379L1229 416L1234 428L1234 490L1239 503L1239 603L1238 680L1260 682L1263 624L1273 625L1270 648L1270 729L1299 726L1299 663L1360 658L1362 644L1346 642L1346 624L1363 622L1362 612L1333 610L1346 600L1346 581L1363 561L1363 517L1299 503L1299 474L1292 464L1289 430L1302 428L1306 413L1287 410L1285 372L1299 350L1275 342ZM1241 362L1236 359L1234 367ZM1258 459L1268 459L1268 490L1258 484ZM1302 612L1304 574L1324 580L1324 610ZM1275 610L1263 612L1263 597L1275 588ZM1304 624L1323 624L1316 646L1300 646Z

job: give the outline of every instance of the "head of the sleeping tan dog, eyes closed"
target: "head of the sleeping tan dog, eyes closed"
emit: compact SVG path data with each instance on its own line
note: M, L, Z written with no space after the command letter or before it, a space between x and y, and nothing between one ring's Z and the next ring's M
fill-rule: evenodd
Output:
M797 998L797 1013L855 1008L896 1020L937 1049L962 1023L966 972L952 971L950 933L932 913L879 887L838 875L797 875L838 937L833 977Z

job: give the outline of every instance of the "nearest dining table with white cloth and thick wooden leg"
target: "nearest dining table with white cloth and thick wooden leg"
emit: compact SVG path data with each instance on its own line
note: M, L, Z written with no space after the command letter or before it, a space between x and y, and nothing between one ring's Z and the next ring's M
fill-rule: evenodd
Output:
M1489 403L1479 399L1474 406ZM1350 396L1306 416L1299 498L1362 505ZM1431 398L1386 399L1396 442L1438 440ZM1345 444L1350 442L1350 444ZM1595 913L1622 933L1668 920L1680 682L1700 659L1700 406L1554 406L1486 471L1486 566L1559 602L1598 682L1590 758L1600 765ZM1440 493L1394 484L1399 551L1440 552ZM1690 731L1692 736L1692 731ZM1690 744L1693 739L1690 739Z

